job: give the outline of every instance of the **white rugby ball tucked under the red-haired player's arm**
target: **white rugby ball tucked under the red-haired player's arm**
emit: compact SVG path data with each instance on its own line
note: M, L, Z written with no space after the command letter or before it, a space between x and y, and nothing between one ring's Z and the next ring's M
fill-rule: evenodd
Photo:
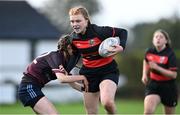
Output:
M99 46L98 52L102 57L108 57L112 52L109 52L109 49L113 49L115 45L119 45L120 40L119 37L110 37L102 41Z

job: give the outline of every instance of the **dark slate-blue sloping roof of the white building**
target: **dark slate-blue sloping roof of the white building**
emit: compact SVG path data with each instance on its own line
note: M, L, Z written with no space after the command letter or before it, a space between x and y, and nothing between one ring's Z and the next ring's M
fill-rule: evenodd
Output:
M60 34L26 1L0 1L0 39L57 39Z

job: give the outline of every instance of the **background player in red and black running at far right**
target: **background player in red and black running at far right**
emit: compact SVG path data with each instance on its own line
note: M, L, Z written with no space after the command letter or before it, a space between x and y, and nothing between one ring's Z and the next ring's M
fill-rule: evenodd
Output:
M146 51L143 61L144 114L153 114L159 103L164 105L165 114L174 114L178 99L176 56L166 31L155 31L152 43L154 47Z

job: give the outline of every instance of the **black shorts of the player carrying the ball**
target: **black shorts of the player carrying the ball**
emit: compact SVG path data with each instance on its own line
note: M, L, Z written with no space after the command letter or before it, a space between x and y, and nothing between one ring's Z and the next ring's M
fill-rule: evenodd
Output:
M93 75L85 75L89 82L89 91L88 92L98 92L99 84L105 80L109 79L115 82L118 85L119 81L119 71L107 73L107 74L93 74Z

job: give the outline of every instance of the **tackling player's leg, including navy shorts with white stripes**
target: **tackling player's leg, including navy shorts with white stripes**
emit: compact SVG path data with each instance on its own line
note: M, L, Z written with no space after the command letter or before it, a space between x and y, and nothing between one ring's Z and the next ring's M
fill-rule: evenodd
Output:
M38 85L21 83L18 88L18 97L24 106L31 106L37 114L57 113Z

